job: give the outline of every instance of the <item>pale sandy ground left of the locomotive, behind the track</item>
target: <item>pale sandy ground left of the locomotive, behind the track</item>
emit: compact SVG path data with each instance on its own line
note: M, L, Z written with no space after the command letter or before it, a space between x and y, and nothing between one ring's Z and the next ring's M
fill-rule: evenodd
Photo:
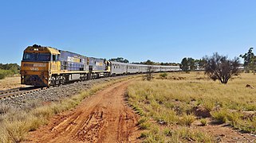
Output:
M21 84L21 77L6 77L5 79L0 79L0 91L5 91L11 88L26 87Z

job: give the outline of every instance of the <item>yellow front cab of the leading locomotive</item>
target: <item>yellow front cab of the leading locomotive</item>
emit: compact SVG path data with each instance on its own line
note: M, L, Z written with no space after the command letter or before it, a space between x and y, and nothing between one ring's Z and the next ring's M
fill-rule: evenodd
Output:
M21 83L37 87L49 86L52 73L61 70L59 55L56 48L36 44L27 47L22 58Z

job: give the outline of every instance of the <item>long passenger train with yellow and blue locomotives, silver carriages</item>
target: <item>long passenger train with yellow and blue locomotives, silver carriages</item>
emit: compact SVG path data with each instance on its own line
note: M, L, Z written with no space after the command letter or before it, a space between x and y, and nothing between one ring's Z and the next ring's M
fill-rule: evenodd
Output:
M129 64L33 44L22 57L21 83L34 87L57 86L70 81L97 79L114 75L181 71L179 66Z

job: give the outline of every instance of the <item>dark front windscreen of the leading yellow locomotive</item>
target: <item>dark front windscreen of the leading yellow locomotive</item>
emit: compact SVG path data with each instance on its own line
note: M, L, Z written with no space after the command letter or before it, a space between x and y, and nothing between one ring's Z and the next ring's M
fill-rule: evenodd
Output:
M24 53L23 60L26 61L49 61L49 53Z

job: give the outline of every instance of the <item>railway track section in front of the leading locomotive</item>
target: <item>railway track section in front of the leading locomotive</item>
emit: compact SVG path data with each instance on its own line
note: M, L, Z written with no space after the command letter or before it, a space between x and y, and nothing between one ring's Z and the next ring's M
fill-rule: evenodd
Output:
M0 99L14 98L22 95L26 95L33 92L46 90L46 87L20 87L13 88L6 91L0 91Z

